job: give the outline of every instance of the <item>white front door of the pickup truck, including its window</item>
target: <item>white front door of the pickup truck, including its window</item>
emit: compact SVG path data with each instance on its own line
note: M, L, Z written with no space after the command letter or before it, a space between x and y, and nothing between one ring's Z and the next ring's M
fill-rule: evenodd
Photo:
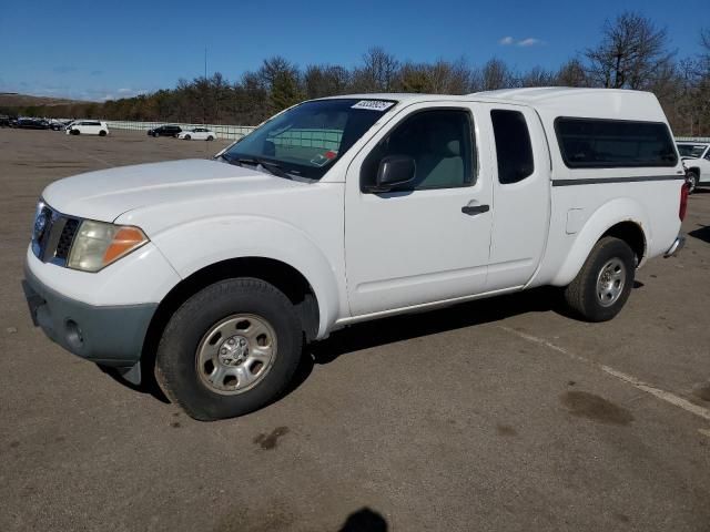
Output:
M405 108L354 157L346 178L345 259L353 316L478 294L491 225L489 152L476 104ZM412 183L369 192L379 162L406 155Z

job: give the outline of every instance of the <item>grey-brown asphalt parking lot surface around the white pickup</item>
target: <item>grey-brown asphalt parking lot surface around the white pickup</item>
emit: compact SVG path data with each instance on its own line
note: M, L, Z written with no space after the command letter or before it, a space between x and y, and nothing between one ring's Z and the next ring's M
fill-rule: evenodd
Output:
M542 289L359 325L202 423L47 340L20 280L52 181L225 144L0 130L1 531L710 530L710 188L613 321Z

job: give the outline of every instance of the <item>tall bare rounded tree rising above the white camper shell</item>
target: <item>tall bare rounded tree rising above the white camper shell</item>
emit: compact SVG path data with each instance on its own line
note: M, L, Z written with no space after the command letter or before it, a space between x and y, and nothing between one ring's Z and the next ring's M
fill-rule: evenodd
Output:
M652 20L631 11L607 20L602 40L585 52L588 73L596 84L613 89L645 89L672 59L668 33Z

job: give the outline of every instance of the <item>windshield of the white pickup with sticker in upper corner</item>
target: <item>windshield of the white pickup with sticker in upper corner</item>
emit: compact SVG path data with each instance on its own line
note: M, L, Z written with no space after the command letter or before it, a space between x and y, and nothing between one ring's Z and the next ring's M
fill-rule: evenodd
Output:
M234 164L274 163L290 174L320 180L395 103L359 99L305 102L268 120L222 157Z

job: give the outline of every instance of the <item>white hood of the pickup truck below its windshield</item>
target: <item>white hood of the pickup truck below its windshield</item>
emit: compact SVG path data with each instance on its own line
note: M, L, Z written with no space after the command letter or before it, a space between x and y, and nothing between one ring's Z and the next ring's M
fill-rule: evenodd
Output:
M42 197L61 213L113 222L125 212L149 205L298 186L307 185L217 161L193 158L80 174L52 183Z

